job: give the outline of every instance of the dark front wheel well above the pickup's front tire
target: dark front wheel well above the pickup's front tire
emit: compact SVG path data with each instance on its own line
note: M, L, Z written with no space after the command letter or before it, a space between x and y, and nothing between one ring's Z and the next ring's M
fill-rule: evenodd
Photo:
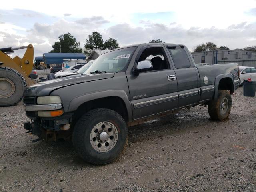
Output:
M124 104L124 101L117 96L99 98L81 104L75 111L74 118L77 120L82 116L82 114L85 114L86 112L97 108L114 110L115 112L120 114L126 122L128 122L127 108Z

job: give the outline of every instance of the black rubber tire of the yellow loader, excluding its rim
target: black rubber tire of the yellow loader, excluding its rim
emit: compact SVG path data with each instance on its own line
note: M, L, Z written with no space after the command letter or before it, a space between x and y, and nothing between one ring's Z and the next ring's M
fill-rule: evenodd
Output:
M0 67L0 78L6 78L15 86L14 93L7 97L1 98L0 96L0 107L2 106L13 106L22 100L23 92L26 88L26 80L24 77L16 70L9 67Z

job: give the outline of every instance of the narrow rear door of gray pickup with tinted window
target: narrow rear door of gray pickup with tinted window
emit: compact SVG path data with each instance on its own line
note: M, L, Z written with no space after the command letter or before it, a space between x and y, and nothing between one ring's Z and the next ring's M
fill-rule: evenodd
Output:
M167 46L178 83L178 107L195 104L200 99L199 74L188 57L185 46Z

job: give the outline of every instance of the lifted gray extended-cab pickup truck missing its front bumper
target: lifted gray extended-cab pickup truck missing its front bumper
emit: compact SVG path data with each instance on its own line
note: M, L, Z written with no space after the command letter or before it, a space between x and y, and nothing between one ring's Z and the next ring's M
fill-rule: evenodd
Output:
M70 139L86 162L107 164L124 150L128 126L196 105L212 120L228 118L238 85L236 63L196 67L184 45L131 45L102 54L84 74L26 88L24 127L38 140Z

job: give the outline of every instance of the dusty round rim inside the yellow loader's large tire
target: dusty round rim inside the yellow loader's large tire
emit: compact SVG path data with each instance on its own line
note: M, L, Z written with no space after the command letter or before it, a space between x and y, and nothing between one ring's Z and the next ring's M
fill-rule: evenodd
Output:
M15 85L8 78L0 78L0 98L8 98L15 92Z

